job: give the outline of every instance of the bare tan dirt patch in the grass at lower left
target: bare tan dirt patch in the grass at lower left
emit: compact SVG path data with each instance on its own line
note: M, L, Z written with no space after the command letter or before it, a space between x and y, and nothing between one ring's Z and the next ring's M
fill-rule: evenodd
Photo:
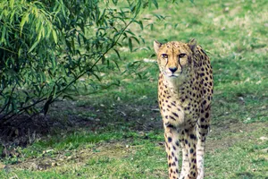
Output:
M135 153L135 147L127 145L126 141L108 141L98 143L95 147L71 151L53 153L53 150L43 151L43 155L38 158L27 158L25 161L5 166L11 169L48 170L51 167L62 166L83 166L88 159L94 158L125 158L131 153ZM51 153L51 155L49 155ZM53 155L53 157L52 157Z

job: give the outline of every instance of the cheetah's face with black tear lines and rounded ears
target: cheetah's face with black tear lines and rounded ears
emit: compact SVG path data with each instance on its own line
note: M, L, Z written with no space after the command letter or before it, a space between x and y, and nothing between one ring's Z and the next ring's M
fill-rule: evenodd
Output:
M154 47L160 71L165 77L172 79L188 72L197 41L193 39L187 44L177 41L161 44L155 40Z

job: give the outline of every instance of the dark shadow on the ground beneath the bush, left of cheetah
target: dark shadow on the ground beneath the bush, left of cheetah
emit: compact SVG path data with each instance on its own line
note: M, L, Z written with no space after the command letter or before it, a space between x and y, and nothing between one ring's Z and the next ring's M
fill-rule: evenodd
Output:
M0 142L7 149L10 146L26 147L37 139L61 132L113 132L124 129L138 132L162 129L157 101L150 105L131 101L100 103L95 99L88 103L57 101L46 116L21 115L0 126ZM2 157L9 155L6 149Z

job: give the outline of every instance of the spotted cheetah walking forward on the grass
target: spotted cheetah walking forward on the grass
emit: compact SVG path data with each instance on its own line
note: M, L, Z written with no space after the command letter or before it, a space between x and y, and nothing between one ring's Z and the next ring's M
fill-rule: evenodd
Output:
M160 69L158 103L169 178L202 179L214 87L209 57L196 39L165 44L155 40L154 48ZM180 172L179 147L182 151Z

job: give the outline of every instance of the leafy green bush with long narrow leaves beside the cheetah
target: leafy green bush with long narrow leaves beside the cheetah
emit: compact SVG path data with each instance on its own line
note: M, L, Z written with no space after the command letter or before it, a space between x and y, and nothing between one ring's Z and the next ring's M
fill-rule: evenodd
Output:
M133 50L133 40L142 40L130 24L142 30L137 17L150 4L157 7L154 0L127 1L123 7L116 0L2 0L0 123L23 112L46 114L56 98L70 98L79 85L96 88L98 64L110 63L105 55L121 59L116 47L127 43Z

